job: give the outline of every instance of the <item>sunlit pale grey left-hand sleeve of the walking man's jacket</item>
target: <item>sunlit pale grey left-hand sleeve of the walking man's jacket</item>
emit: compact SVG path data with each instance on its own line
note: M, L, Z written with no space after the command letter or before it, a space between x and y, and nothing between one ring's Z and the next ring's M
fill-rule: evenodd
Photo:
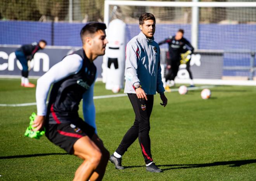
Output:
M136 44L128 43L126 46L126 61L125 61L125 80L130 81L131 85L139 85L138 79L138 54L139 48Z

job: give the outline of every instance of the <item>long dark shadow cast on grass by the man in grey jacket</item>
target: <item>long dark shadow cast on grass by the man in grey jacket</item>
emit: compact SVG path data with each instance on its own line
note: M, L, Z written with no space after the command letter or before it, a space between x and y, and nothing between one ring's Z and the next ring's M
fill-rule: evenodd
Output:
M213 162L213 163L206 163L206 164L174 164L174 165L157 165L159 167L170 167L164 170L171 170L171 169L189 169L189 168L201 168L201 167L213 167L213 166L225 166L230 165L230 167L240 167L246 164L256 163L256 159L253 160L239 160L239 161L225 161L225 162ZM134 167L145 167L145 166L126 166L125 168L134 168Z

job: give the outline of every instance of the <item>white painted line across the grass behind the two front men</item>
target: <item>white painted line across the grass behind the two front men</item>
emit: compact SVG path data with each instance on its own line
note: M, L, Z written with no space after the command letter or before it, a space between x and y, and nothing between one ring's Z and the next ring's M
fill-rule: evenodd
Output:
M208 89L216 87L216 85L204 85L199 87L188 87L188 90L199 90L199 89ZM179 89L171 89L170 92L178 92ZM112 94L112 95L105 95L105 96L94 96L93 99L105 99L105 98L112 98L112 97L125 97L127 94ZM35 106L36 102L31 103L23 103L23 104L0 104L2 107L23 107L23 106Z

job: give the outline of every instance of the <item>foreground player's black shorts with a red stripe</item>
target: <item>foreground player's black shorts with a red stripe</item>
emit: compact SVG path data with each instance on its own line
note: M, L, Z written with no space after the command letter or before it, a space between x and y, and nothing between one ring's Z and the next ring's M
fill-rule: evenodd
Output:
M95 128L81 118L72 123L48 124L46 127L47 138L69 154L74 154L73 145L79 138L84 136L92 138L95 133Z

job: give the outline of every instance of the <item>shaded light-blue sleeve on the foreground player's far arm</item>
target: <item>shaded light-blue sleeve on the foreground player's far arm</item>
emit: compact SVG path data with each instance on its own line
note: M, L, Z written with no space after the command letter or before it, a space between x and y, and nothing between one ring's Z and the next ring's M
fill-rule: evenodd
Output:
M95 122L95 106L93 102L93 87L94 83L83 94L83 118L88 125L95 128L95 133L97 134L97 127Z

